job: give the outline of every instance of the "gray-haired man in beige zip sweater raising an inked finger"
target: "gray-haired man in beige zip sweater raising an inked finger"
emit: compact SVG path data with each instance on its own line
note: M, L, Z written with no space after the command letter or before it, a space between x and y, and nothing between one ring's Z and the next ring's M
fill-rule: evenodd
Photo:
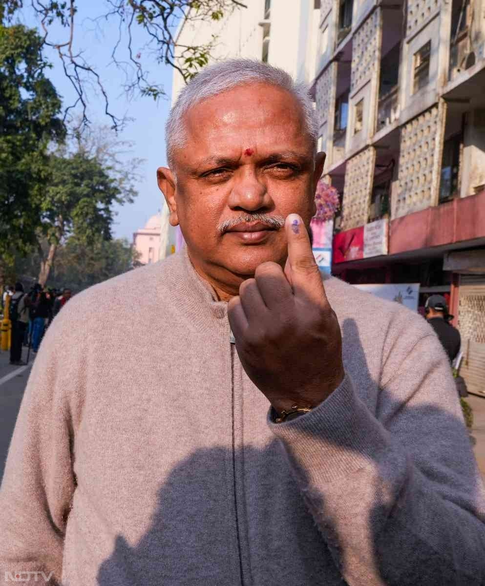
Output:
M262 63L182 91L158 183L187 247L49 328L6 463L2 570L483 584L483 485L438 339L313 261L316 130L305 89Z

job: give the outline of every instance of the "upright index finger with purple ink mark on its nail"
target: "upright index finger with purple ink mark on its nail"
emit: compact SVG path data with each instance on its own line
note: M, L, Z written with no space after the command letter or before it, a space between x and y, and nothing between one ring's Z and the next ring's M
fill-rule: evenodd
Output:
M325 297L322 275L315 262L310 237L302 218L298 214L289 214L286 217L285 230L288 240L288 271L285 272L293 291L296 288L306 291L310 297Z

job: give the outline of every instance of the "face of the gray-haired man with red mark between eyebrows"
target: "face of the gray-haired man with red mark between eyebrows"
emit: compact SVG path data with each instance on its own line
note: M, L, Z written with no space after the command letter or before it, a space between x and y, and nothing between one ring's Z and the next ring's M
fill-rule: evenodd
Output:
M186 114L186 146L175 153L176 186L168 169L160 168L158 177L170 223L180 224L199 272L235 282L265 261L285 263L284 229L241 220L298 213L308 226L323 156L315 166L303 128L295 98L262 83L235 87Z

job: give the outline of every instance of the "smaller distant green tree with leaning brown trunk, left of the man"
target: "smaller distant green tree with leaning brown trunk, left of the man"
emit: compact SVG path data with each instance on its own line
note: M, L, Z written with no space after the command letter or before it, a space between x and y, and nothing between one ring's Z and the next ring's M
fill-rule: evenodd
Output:
M42 223L37 233L40 257L39 282L49 277L57 248L70 236L76 242L94 243L111 240L114 203L132 203L134 186L124 176L111 173L100 155L93 156L84 148L74 154L57 152L50 158L50 183L42 201ZM48 244L42 246L42 238Z

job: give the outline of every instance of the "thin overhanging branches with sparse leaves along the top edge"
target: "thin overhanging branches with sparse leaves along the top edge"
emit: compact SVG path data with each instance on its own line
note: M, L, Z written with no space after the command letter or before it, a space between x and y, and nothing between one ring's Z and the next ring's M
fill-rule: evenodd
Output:
M24 4L40 20L43 30L43 43L56 51L62 61L64 73L76 92L76 102L66 108L78 105L82 111L81 122L86 125L87 98L86 88L94 82L103 95L105 113L111 118L114 128L122 126L120 120L110 110L110 98L103 86L100 75L93 63L88 63L83 57L82 50L76 50L75 39L78 28L77 13L81 0L0 0L0 19L12 22L23 8ZM100 2L100 6L103 4ZM119 39L112 47L112 60L115 66L127 74L125 90L131 94L139 91L142 96L151 96L155 99L165 95L160 84L149 79L142 59L142 52L134 49L133 32L139 26L146 35L145 48L155 51L159 63L175 67L185 80L191 79L197 71L209 62L209 56L216 38L205 45L180 45L175 36L177 25L186 22L219 21L227 12L235 8L245 8L240 0L105 0L104 11L93 15L95 22L118 23ZM55 30L61 25L65 31L62 40L54 40ZM121 47L127 53L127 59L119 57ZM147 53L145 50L144 53Z

